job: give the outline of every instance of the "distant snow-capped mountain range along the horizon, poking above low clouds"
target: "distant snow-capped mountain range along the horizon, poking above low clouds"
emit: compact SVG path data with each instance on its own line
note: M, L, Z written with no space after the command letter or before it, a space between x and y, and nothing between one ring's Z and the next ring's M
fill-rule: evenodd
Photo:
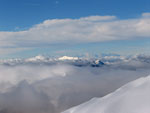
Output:
M149 68L150 67L150 56L135 55L135 56L103 56L97 58L86 58L86 57L48 57L38 55L31 58L25 59L5 59L0 60L0 65L53 65L53 64L65 64L73 65L77 67L102 67L109 66L112 68L124 68L130 70L136 70L137 68Z

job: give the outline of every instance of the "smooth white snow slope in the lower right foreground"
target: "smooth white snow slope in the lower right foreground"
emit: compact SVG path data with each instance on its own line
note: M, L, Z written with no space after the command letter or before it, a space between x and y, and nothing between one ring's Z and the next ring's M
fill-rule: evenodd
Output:
M150 76L130 82L105 97L94 98L63 113L150 113Z

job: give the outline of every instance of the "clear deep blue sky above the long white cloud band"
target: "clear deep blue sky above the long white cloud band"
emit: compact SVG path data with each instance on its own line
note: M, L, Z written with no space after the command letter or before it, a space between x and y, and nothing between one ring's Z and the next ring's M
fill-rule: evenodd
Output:
M0 30L27 29L47 19L150 12L149 0L0 0Z

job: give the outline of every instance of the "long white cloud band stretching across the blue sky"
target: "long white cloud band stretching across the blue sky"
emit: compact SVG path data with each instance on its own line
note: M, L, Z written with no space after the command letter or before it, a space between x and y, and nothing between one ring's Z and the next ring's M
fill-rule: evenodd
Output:
M26 31L0 32L0 48L149 38L149 15L143 13L140 18L126 20L119 20L115 16L46 20Z

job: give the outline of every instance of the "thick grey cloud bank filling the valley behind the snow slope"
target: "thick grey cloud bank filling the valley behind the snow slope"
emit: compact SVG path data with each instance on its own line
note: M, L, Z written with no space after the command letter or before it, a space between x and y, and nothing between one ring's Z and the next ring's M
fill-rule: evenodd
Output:
M16 65L4 61L0 65L0 113L60 113L150 73L148 56L101 60L102 67L80 67L68 61L47 64L44 59L15 60Z

